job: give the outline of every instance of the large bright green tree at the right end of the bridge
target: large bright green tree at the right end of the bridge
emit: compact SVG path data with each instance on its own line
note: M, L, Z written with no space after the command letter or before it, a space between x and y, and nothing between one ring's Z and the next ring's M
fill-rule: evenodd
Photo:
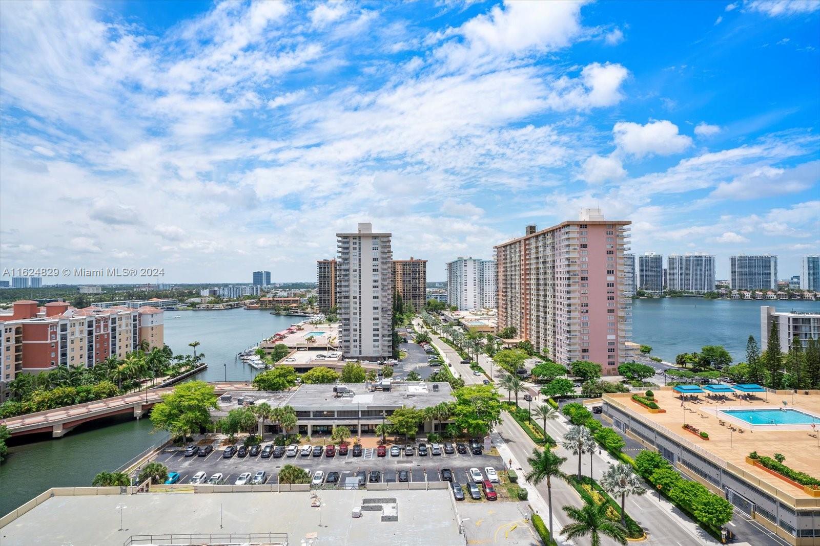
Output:
M205 381L189 381L162 395L151 412L154 430L168 431L178 438L194 431L210 430L211 410L218 408L213 386Z

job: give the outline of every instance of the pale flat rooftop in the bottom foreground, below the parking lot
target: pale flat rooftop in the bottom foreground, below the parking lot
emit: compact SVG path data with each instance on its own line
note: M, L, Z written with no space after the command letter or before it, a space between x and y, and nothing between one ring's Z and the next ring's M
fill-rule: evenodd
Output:
M140 493L55 496L2 528L3 546L123 544L131 535L171 533L287 533L289 544L463 546L449 490L307 491L282 493ZM364 499L396 499L398 521L353 508ZM124 505L120 529L120 510ZM320 526L321 521L321 526Z

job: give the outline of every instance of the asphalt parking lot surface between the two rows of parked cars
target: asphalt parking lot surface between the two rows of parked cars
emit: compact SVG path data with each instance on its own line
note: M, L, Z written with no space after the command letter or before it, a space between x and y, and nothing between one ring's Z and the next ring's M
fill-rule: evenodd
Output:
M403 448L404 444L399 444ZM428 447L430 444L427 444ZM352 445L351 445L352 448ZM348 454L341 456L338 453L334 457L326 457L325 453L321 457L301 454L296 457L281 458L261 458L250 455L239 458L234 455L231 458L223 458L224 447L216 448L207 457L184 457L184 449L165 449L159 453L154 460L168 467L168 472L179 472L180 483L188 483L191 476L197 472L205 472L207 476L212 476L217 472L223 475L225 484L233 484L239 474L250 472L252 475L259 471L267 474L266 483L276 483L280 468L285 464L303 468L311 476L313 472L321 470L327 476L328 472L339 473L339 483L344 483L345 479L355 476L357 472L364 471L368 475L371 471L379 471L379 481L395 482L399 481L399 471L408 471L408 481L442 481L441 469L449 468L453 471L453 481L462 484L467 483L469 478L467 472L471 467L477 467L484 473L485 467L494 467L496 471L504 469L502 458L498 455L484 454L474 455L467 449L467 453L442 453L431 455L429 450L426 456L418 454L418 444L415 444L414 453L405 455L404 450L398 457L391 457L389 446L385 457L377 457L376 449L362 449L361 457L353 457L353 449L348 449Z

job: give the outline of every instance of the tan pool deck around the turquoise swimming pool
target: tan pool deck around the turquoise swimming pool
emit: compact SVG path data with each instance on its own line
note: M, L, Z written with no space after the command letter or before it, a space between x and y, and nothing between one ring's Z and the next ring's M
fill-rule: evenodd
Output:
M699 395L699 402L685 402L681 407L681 400L673 393L669 387L653 389L658 406L666 410L666 413L649 413L649 409L640 404L636 404L630 399L631 394L605 395L608 399L620 402L623 408L630 413L638 414L668 430L668 433L676 435L696 448L713 455L714 458L722 459L731 463L745 473L747 479L757 479L770 485L776 490L780 490L795 499L810 499L809 494L802 488L790 485L776 476L772 476L760 467L755 467L745 462L745 458L752 451L757 451L759 455L772 457L774 453L782 453L786 456L784 464L797 471L805 472L810 476L820 477L820 447L818 447L818 432L812 432L808 425L800 426L802 430L782 430L795 429L797 426L754 426L740 419L730 422L722 414L717 414L722 409L777 409L782 407L784 400L788 402L789 408L795 408L806 413L820 415L820 394L795 394L773 395L768 393L768 402L765 399L737 400L729 396L728 400L721 404L717 399L709 399L704 394ZM817 391L813 391L817 392ZM761 396L765 397L762 393ZM618 404L618 405L621 405ZM686 409L685 409L686 408ZM721 425L719 421L724 424ZM695 426L699 431L705 431L709 435L708 440L704 440L690 431L682 428L684 422ZM739 423L739 424L738 424ZM733 427L735 430L732 430ZM743 432L740 432L740 431ZM820 431L820 425L818 425ZM813 501L820 499L813 499Z

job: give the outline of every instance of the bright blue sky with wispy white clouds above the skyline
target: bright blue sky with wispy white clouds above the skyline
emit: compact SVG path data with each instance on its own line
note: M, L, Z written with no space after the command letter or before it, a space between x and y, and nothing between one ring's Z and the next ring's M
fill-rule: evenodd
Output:
M820 252L820 2L9 2L0 33L2 267L312 280L370 221L440 280L585 206L719 278Z

